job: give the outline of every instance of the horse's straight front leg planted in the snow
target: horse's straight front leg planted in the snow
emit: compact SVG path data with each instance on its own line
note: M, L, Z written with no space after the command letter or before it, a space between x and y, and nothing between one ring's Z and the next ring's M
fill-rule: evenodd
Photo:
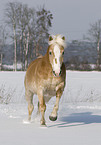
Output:
M38 95L38 99L39 99L39 109L40 109L41 116L42 116L40 123L41 123L41 125L45 125L44 115L45 115L45 111L46 111L46 104L44 101L43 92L38 91L37 95Z

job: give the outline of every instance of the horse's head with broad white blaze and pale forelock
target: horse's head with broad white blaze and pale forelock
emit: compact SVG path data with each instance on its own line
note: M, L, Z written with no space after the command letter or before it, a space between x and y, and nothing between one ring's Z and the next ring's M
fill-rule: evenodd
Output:
M53 74L56 77L61 75L61 66L63 63L65 37L55 35L49 37L49 61L52 66Z

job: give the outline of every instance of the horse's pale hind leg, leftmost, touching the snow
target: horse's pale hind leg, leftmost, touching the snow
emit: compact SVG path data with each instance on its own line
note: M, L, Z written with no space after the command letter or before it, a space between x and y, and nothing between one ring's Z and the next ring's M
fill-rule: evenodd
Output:
M28 120L30 121L31 120L31 115L32 115L32 112L33 112L33 109L34 109L33 93L30 92L30 91L26 91L25 92L25 97L26 97L26 100L28 102L28 113L29 113Z

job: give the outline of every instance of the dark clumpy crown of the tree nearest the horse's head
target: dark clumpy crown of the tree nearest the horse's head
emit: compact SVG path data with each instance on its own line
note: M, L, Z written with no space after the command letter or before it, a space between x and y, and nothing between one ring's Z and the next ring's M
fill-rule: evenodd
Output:
M37 11L37 28L36 28L36 54L42 47L42 44L46 43L49 37L49 30L52 27L53 15L50 11L46 10L43 6Z

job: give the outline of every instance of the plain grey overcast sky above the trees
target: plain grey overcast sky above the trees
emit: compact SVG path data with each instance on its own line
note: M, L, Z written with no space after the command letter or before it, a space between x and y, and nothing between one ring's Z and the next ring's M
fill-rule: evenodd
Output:
M51 34L63 34L68 41L81 40L89 25L101 19L101 0L0 0L0 19L5 4L19 1L37 8L45 5L53 14Z

